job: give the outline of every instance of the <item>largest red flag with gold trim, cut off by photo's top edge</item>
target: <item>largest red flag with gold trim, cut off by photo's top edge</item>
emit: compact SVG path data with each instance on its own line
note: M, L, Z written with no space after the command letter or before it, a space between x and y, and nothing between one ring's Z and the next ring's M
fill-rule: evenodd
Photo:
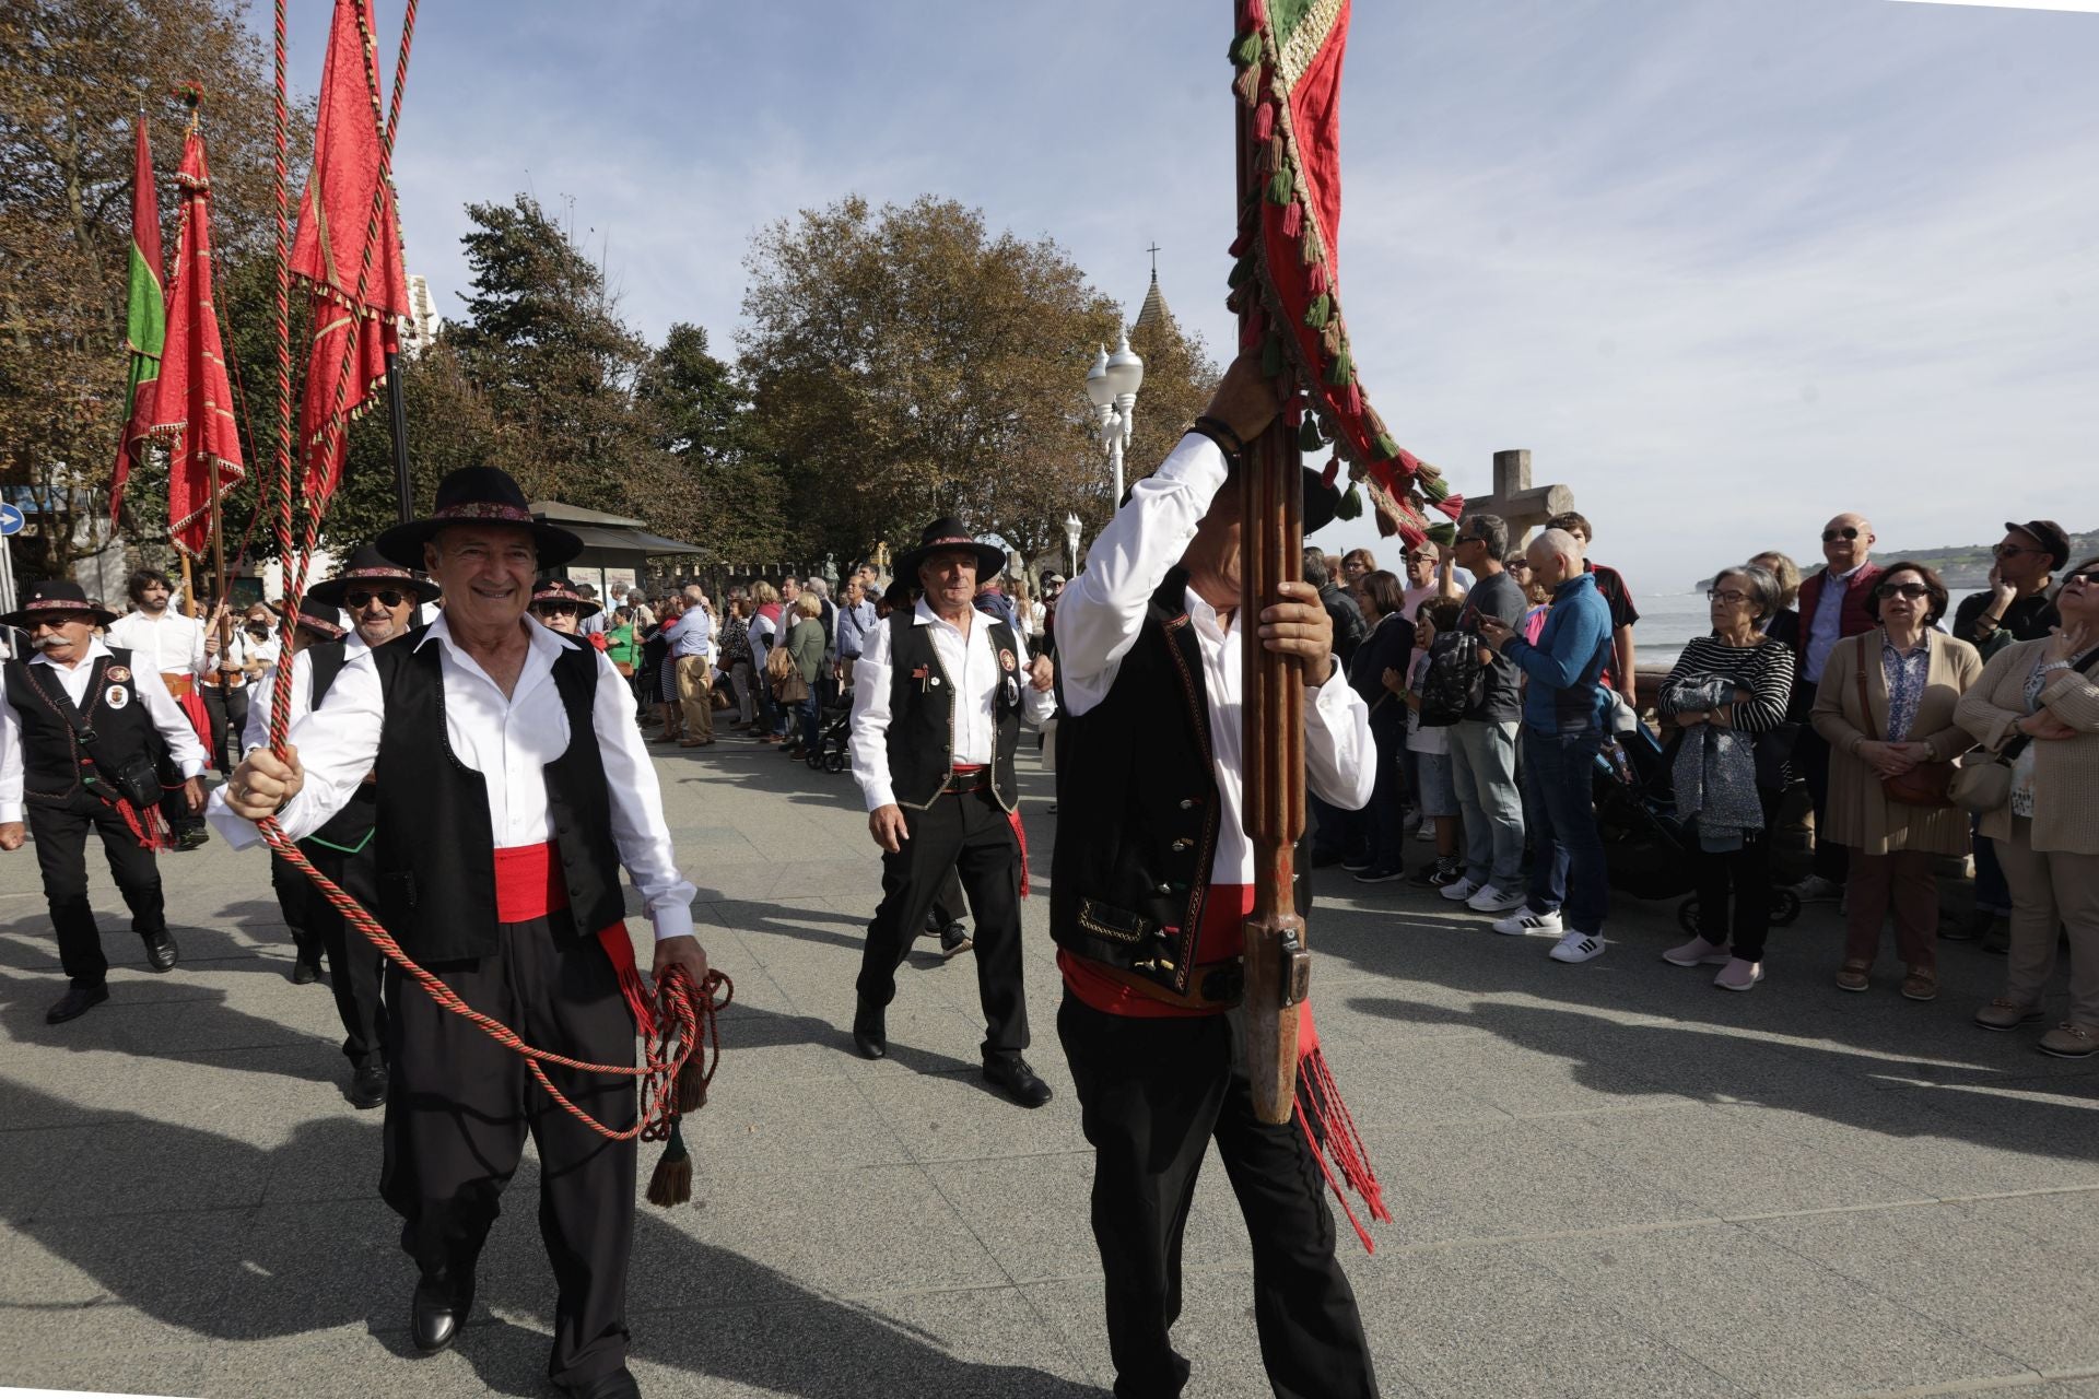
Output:
M342 478L342 424L363 411L386 380L386 354L401 348L401 317L407 315L401 222L393 187L380 180L380 136L372 2L336 0L313 176L292 245L292 275L313 296L313 352L298 440L306 457L306 493L317 503L334 495Z

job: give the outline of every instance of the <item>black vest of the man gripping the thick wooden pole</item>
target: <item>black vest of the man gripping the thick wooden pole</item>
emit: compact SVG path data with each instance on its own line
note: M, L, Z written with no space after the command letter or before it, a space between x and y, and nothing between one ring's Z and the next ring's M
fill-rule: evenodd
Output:
M1220 810L1186 571L1152 591L1108 694L1083 715L1064 713L1056 747L1050 935L1188 996ZM1310 904L1306 856L1299 841L1299 912Z

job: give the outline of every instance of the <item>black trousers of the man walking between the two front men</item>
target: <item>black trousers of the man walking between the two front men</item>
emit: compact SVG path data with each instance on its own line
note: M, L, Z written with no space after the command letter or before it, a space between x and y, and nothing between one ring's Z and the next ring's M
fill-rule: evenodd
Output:
M896 969L926 927L940 885L961 877L976 912L976 994L984 1005L984 1057L1029 1047L1029 1000L1020 986L1020 845L989 791L936 797L924 812L905 808L911 839L882 856L882 906L867 925L861 1000L896 998Z

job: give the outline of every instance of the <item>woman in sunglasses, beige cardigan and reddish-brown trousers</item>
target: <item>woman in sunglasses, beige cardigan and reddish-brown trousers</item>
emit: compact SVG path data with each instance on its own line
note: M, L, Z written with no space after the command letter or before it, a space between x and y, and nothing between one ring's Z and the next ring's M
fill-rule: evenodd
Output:
M1837 986L1870 986L1881 921L1893 908L1895 948L1908 965L1902 994L1931 1000L1939 994L1933 866L1969 852L1967 812L1895 801L1885 782L1973 745L1954 724L1954 705L1981 675L1981 657L1933 631L1946 615L1946 583L1923 564L1889 564L1866 610L1877 627L1837 642L1814 707L1816 732L1830 747L1828 828L1816 839L1847 847L1851 868Z

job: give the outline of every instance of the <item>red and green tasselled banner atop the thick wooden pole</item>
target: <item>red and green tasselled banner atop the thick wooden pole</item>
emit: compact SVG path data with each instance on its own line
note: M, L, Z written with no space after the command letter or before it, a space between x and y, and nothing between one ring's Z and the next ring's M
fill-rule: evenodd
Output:
M1270 375L1291 371L1303 390L1287 415L1299 447L1333 447L1329 482L1348 461L1377 510L1381 535L1408 545L1432 533L1427 510L1457 520L1465 499L1400 447L1362 392L1341 313L1341 57L1350 0L1241 0L1232 90L1253 145L1257 187L1232 243L1232 296L1241 348L1259 348ZM1310 415L1308 415L1310 409Z

